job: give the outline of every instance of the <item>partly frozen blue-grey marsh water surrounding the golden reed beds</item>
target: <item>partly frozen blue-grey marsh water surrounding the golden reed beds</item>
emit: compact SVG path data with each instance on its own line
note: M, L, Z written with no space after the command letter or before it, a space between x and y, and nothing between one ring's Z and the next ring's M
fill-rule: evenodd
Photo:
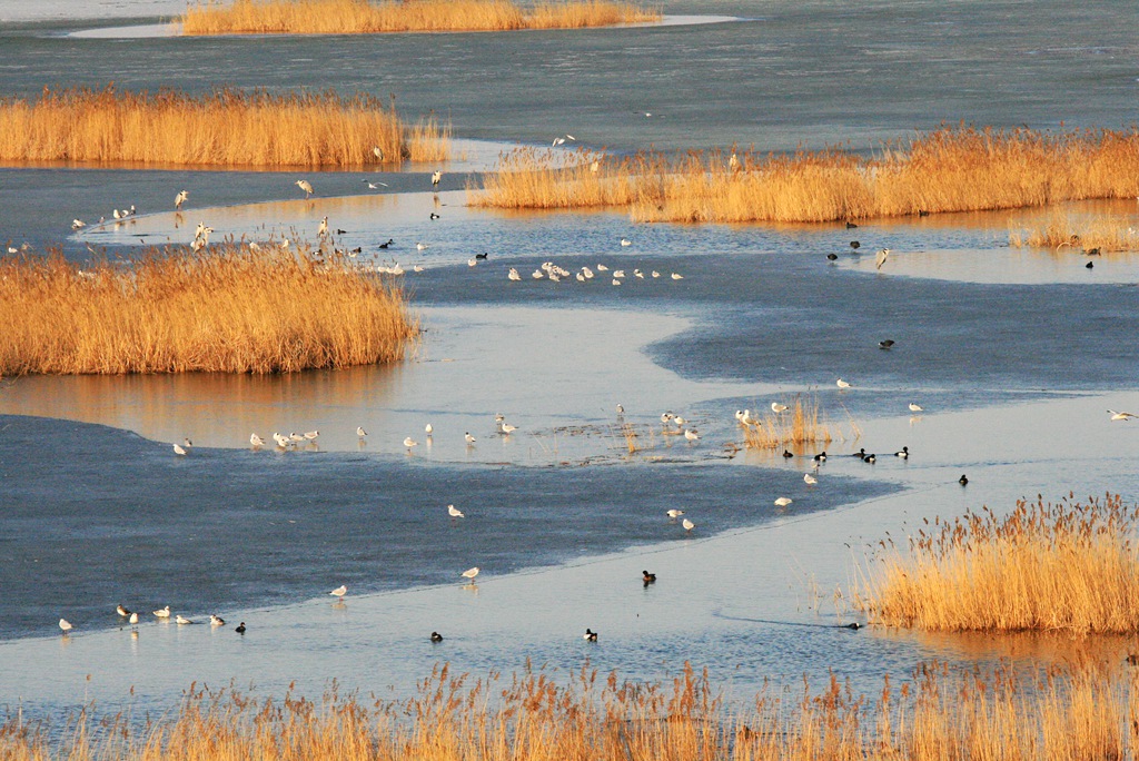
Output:
M39 6L49 18L74 7ZM405 115L434 108L461 138L548 145L568 131L616 150L869 148L942 120L1132 121L1139 52L1123 16L1133 9L1026 8L670 2L666 13L749 21L376 39L75 40L65 33L93 23L9 22L0 87L393 91ZM128 3L98 24L157 13L167 11ZM6 380L0 701L116 705L134 687L136 705L169 706L195 680L269 693L296 680L313 695L333 678L398 696L439 661L483 673L526 658L557 669L589 658L645 679L688 658L745 702L764 679L830 669L875 689L884 672L928 657L1008 652L838 629L855 615L835 589L886 532L1036 493L1139 498L1139 425L1104 412L1139 407L1139 261L1105 256L1087 270L1074 253L1007 247L1010 226L1050 211L857 230L634 226L615 213L467 208L462 173L480 163L445 167L437 205L423 193L434 167L383 172L390 188L367 197L344 196L372 173L305 172L319 196L308 203L297 172L0 170L0 235L15 244L41 248L74 216L139 206L130 224L68 238L77 259L88 244L130 257L144 238L185 243L198 219L218 235L314 237L327 214L363 260L427 268L403 276L426 333L399 367ZM183 219L148 214L182 188ZM1139 226L1131 202L1095 208ZM633 245L618 246L622 236ZM378 249L388 237L396 247ZM850 253L852 238L895 253L878 272L872 253ZM431 248L417 252L417 240ZM482 251L490 260L469 268ZM530 279L544 261L665 277L620 288ZM509 267L523 283L507 281ZM887 337L896 347L878 350ZM839 392L837 377L854 387ZM803 483L805 456L729 457L723 444L740 442L735 410L802 392L817 394L836 431L818 486ZM926 412L910 416L910 401ZM639 434L633 455L617 402ZM690 418L702 441L663 435L665 409ZM521 429L498 436L495 412ZM362 445L358 425L370 432ZM248 450L251 431L311 428L319 448ZM410 455L407 435L420 441ZM175 459L170 442L182 436L196 447ZM902 445L909 460L842 457ZM779 496L795 500L784 513ZM468 517L450 521L450 502ZM670 507L686 509L693 534L664 517ZM457 583L472 565L483 568L477 587ZM659 574L648 589L644 567ZM327 591L341 583L349 598L334 605ZM219 612L249 631L145 620L136 639L114 614L120 602L170 604L199 621ZM60 615L76 623L62 641ZM603 632L599 647L582 644L585 627ZM433 629L441 646L427 641Z

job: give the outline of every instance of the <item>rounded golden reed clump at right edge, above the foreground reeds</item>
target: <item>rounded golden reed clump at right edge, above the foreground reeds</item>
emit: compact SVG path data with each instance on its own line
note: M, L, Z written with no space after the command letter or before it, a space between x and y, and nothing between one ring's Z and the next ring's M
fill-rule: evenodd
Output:
M935 519L906 554L882 557L857 604L880 623L929 631L1136 635L1137 519L1139 506L1118 496Z

